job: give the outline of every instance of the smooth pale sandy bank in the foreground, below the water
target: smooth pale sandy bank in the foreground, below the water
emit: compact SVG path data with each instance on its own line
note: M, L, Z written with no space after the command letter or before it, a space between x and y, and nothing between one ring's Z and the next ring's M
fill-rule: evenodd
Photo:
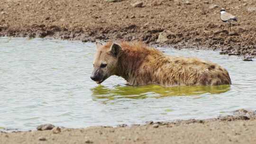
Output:
M61 128L41 126L40 131L0 133L1 144L255 144L255 113L244 109L236 116L206 120L148 122L118 127ZM39 129L38 128L38 129ZM44 130L43 129L52 129Z

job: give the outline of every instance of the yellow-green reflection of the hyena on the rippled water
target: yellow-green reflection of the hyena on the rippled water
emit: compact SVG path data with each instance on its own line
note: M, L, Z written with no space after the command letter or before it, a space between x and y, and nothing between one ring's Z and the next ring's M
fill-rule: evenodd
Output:
M219 94L230 90L230 85L220 86L176 86L176 87L162 87L159 85L145 85L145 86L120 86L108 88L99 85L92 88L92 95L95 99L146 99L163 98L171 96L192 96L201 95L204 93Z

